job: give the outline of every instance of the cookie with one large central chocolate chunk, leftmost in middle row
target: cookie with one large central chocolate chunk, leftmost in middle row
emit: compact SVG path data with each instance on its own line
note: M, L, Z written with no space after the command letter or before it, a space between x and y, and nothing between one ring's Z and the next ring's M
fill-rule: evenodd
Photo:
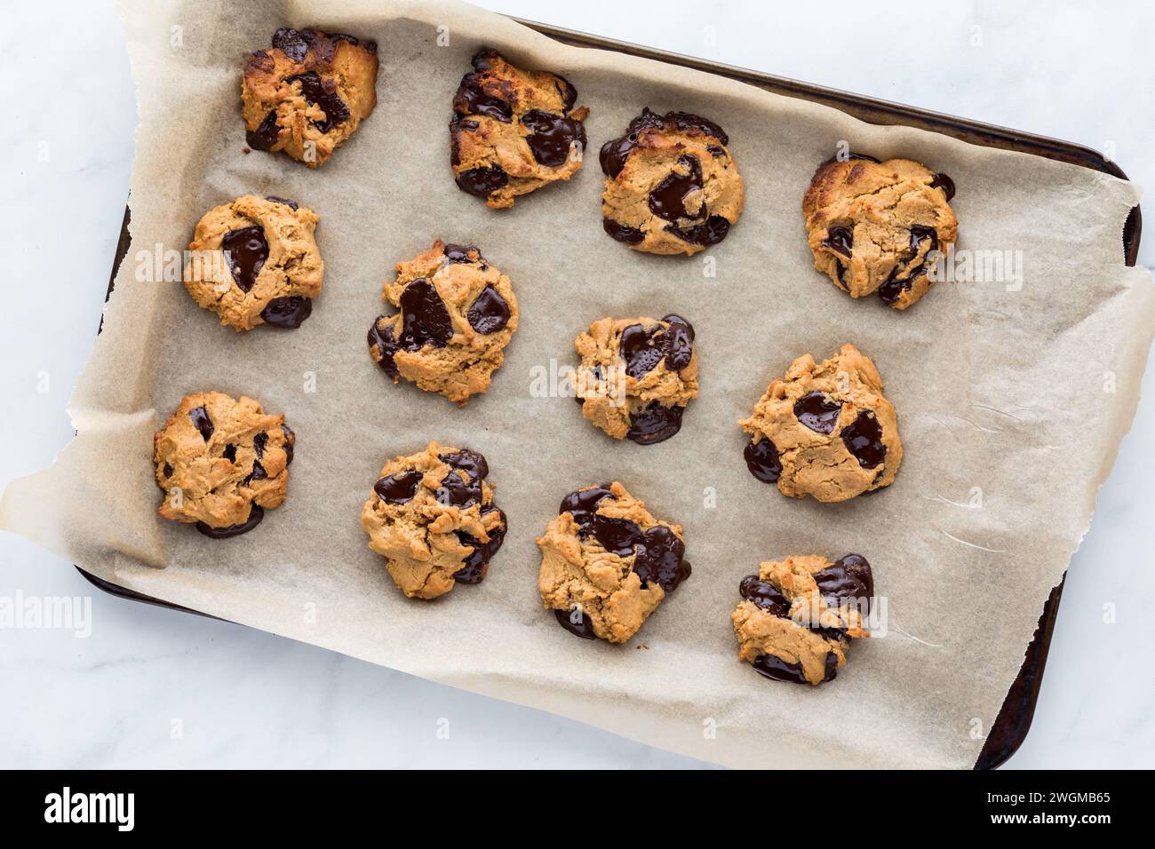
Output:
M312 209L280 198L246 194L214 207L188 245L185 289L234 330L300 327L325 280L316 222Z

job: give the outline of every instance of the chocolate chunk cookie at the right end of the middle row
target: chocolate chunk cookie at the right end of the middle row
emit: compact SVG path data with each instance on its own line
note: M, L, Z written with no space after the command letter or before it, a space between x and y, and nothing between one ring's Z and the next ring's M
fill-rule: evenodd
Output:
M842 345L815 364L798 357L739 422L751 434L746 467L793 498L845 501L894 483L902 462L899 422L874 364Z

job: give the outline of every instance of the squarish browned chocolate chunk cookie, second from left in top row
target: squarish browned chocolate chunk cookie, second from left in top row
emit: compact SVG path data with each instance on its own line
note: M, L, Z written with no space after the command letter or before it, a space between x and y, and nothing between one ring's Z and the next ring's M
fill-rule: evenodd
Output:
M449 164L457 187L492 209L581 167L586 106L578 89L547 70L515 68L495 51L474 57L461 79L449 121Z

